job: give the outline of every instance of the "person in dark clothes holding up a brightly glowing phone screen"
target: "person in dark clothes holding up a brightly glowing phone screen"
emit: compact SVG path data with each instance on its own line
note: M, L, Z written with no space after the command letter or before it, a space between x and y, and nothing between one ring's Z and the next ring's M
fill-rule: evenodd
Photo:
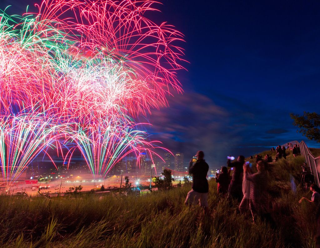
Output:
M243 164L244 156L240 155L236 162L231 163L230 159L227 161L228 167L233 168L232 179L229 185L228 192L230 195L237 199L238 202L241 201L242 195L242 177L243 177Z

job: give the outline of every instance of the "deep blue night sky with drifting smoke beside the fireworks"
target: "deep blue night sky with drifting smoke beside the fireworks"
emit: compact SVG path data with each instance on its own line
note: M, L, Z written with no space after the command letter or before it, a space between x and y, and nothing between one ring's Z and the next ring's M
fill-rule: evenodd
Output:
M22 14L31 0L1 0ZM152 19L185 35L184 93L152 110L150 139L186 162L203 150L210 167L305 140L290 113L320 113L320 2L162 0ZM209 2L209 3L208 3ZM141 118L141 121L143 118Z

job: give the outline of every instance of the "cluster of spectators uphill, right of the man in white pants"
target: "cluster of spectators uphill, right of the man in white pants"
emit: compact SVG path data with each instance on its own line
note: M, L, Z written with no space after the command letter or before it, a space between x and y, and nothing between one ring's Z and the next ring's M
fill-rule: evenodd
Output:
M264 158L261 155L250 156L247 162L242 155L238 156L235 162L228 159L229 169L225 166L221 167L215 177L218 183L218 194L221 198L236 200L239 204L239 212L246 216L251 213L253 221L260 216L261 219L273 223L268 202L269 170L273 162L286 159L288 150L291 150L294 156L300 155L300 148L288 143L287 146L271 148L271 152L275 153L275 159L272 159L272 154L266 154ZM255 166L250 162L254 162ZM254 167L256 169L253 169ZM315 197L317 199L317 195Z

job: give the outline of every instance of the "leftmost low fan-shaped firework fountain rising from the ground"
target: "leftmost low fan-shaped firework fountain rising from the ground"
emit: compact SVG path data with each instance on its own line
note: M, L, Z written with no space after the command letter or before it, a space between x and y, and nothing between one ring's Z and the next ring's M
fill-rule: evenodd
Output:
M33 113L0 116L0 164L8 190L29 163L57 136L57 126Z

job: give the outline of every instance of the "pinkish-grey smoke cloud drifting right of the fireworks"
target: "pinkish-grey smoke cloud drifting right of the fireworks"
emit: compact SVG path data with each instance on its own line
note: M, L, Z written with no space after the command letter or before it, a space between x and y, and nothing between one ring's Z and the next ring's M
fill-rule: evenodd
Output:
M168 108L153 110L149 121L151 139L162 141L172 152L183 152L185 162L203 150L211 167L221 166L230 144L239 142L230 114L199 93L177 95L169 100Z

